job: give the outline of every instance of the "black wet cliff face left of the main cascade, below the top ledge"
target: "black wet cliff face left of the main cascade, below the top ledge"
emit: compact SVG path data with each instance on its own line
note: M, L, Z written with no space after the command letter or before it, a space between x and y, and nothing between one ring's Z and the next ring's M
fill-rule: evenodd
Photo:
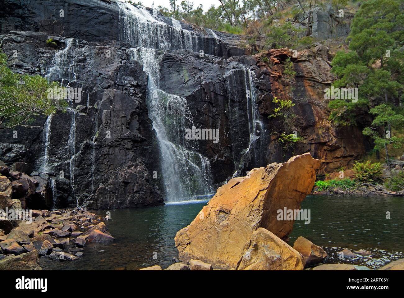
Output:
M6 53L11 53L13 48L21 44L34 44L36 54L25 57L29 59L24 62L25 67L18 69L36 73L38 61L44 59L47 66L41 65L38 71L44 75L48 72L47 69L55 66L55 49L47 48L43 43L44 38L44 34L16 32L0 39L4 42L3 50ZM68 40L59 40L62 48L68 47ZM151 171L159 170L158 147L145 103L147 76L139 63L128 60L126 50L127 48L117 42L105 46L76 40L67 49L66 61L62 61L64 64L50 71L52 80L63 80L64 84L75 80L70 87L82 89L80 102L73 103L72 109L57 113L50 120L47 161L49 166L46 171L55 181L53 194L60 205L58 207L76 205L77 199L79 204L93 204L91 197L99 185L110 183L110 178L118 173L115 173L116 169L129 162L135 162L138 158L145 163L146 171L147 167ZM106 56L107 52L111 57ZM70 65L74 67L70 68ZM68 69L73 71L68 73ZM43 118L38 119L38 125L44 126L44 121ZM13 138L12 130L1 132L2 140L8 142L1 146L6 164L11 164L17 157L25 154L25 160L32 162L36 169L39 169L44 164L41 158L44 156L46 132L42 129L18 130L17 139ZM28 144L27 150L20 148L21 143ZM148 175L148 172L145 172L146 174ZM156 189L156 182L159 183L136 180L133 183L140 184L129 187L151 185L150 189ZM147 205L153 205L153 198L147 197ZM154 203L158 204L161 196L155 198ZM108 204L105 200L96 206L124 207L118 202ZM127 206L128 204L125 205ZM141 203L138 202L137 206L141 206Z

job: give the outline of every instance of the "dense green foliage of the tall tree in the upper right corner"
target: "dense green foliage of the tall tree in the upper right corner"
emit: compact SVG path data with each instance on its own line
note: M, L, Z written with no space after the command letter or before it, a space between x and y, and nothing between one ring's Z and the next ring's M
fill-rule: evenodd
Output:
M355 14L347 38L349 50L332 60L335 88L358 88L358 102L330 101L330 119L356 124L370 107L394 102L404 87L404 13L402 0L369 0Z

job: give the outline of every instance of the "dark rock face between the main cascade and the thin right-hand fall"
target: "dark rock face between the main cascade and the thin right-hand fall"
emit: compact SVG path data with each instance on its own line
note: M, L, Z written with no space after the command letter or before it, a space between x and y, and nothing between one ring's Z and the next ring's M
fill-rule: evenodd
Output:
M254 159L254 148L246 154L250 143L248 124L252 122L247 92L255 86L250 85L248 69L243 64L175 50L164 52L160 71L160 88L187 100L196 127L219 129L217 143L198 141L198 151L211 160L215 184L236 170L244 173L265 163L263 156ZM261 149L265 146L257 147L260 145Z

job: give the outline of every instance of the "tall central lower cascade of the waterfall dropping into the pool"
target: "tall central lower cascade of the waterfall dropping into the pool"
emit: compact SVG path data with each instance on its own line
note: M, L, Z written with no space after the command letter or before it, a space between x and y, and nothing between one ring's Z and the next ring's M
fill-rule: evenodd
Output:
M159 89L159 59L151 48L131 48L131 59L148 73L147 107L156 131L166 201L185 201L212 193L209 159L197 152L193 140L185 140L185 128L194 125L186 99Z

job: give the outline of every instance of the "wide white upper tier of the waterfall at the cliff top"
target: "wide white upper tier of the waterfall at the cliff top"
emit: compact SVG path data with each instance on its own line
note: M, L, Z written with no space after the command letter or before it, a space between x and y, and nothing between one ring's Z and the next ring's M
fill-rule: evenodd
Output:
M157 15L151 15L143 6L120 1L117 3L120 7L120 38L123 42L159 50L200 50L196 33L182 29L177 20L170 26L158 20Z

